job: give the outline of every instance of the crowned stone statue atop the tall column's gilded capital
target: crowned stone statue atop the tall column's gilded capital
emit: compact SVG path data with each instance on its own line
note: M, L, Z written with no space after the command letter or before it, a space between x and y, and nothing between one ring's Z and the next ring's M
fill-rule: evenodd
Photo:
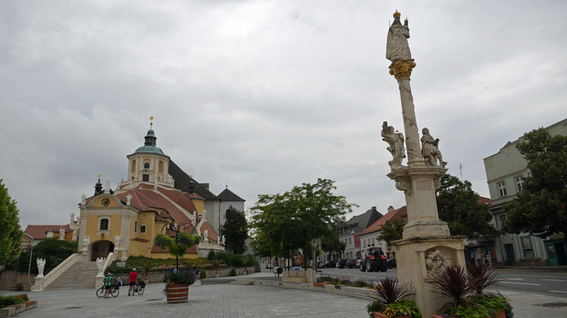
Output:
M403 59L411 59L410 46L408 45L410 38L410 28L408 27L408 19L404 24L400 22L400 13L395 11L394 22L388 29L388 40L386 40L386 59L392 62L401 61Z

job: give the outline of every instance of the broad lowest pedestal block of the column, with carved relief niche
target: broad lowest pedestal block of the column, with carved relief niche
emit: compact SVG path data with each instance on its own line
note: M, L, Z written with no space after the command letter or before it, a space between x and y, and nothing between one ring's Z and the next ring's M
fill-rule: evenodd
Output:
M398 280L415 290L415 303L423 317L432 317L443 302L429 274L449 263L465 267L464 240L464 236L438 236L411 237L393 242Z

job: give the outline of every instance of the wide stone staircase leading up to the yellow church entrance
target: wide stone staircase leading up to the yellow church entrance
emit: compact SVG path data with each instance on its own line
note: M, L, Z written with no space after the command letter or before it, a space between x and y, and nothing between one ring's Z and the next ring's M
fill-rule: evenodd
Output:
M94 288L94 276L97 273L99 273L99 270L96 268L96 261L77 261L45 289Z

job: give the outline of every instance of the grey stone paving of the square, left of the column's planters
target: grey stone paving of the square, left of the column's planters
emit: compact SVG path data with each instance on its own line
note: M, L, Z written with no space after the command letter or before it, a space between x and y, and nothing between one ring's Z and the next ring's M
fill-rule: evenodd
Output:
M366 300L309 290L257 285L192 285L189 302L166 304L163 283L143 295L97 298L95 290L28 293L38 307L19 317L368 317Z

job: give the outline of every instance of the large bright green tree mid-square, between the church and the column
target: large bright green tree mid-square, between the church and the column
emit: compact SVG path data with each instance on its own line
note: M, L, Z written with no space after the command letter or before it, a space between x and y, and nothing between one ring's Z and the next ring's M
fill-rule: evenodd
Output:
M311 240L328 234L333 224L344 221L352 206L330 179L303 183L283 194L259 194L251 208L254 248L262 256L287 256L301 248L310 250ZM303 258L304 266L308 255Z

